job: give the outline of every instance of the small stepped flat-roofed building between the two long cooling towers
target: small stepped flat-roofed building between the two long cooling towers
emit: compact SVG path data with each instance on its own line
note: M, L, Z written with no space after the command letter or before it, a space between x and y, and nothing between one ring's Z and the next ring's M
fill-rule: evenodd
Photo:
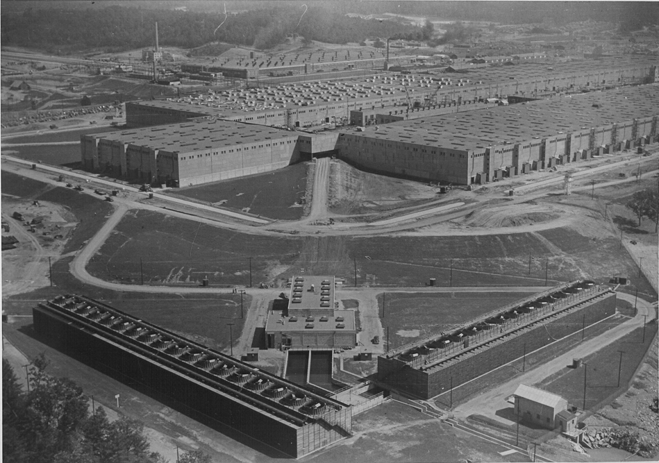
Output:
M353 310L336 310L333 276L295 276L285 312L272 310L265 328L268 348L353 348Z

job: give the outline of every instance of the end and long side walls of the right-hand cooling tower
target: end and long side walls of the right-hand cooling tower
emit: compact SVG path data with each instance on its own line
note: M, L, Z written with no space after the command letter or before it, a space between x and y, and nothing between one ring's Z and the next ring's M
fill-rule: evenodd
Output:
M487 350L465 358L445 368L421 371L413 369L397 359L378 357L378 380L390 385L392 389L407 392L421 398L431 398L448 392L451 388L481 376L501 365L522 357L526 352L547 346L553 339L560 339L577 332L585 323L586 326L615 314L615 294L604 294L601 298L587 303L556 321L537 326L519 335L511 335L505 342ZM545 328L546 327L546 328ZM551 337L547 336L551 333ZM401 368L401 365L405 365Z

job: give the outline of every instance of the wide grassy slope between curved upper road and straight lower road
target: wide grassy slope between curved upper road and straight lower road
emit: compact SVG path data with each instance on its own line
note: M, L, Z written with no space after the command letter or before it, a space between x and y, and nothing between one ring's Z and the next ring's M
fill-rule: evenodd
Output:
M581 248L562 244L572 239ZM559 244L572 251L561 251ZM211 284L246 285L250 257L253 283L280 286L296 273L333 274L353 285L355 262L358 285L382 287L421 287L429 278L442 287L538 286L546 277L548 285L556 285L579 278L608 281L612 274L637 272L616 239L579 240L563 228L542 239L535 233L261 237L145 211L124 217L89 270L99 278L135 283L142 258L145 281L151 283L197 283L208 276Z

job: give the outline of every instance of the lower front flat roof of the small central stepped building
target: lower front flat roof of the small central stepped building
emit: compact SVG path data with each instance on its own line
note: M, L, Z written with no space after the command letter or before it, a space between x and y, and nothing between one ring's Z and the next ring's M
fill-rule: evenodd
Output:
M272 312L265 327L266 332L273 331L355 331L355 311L354 310L335 310L333 315L315 315L304 317L302 315L289 315L283 317L278 313Z

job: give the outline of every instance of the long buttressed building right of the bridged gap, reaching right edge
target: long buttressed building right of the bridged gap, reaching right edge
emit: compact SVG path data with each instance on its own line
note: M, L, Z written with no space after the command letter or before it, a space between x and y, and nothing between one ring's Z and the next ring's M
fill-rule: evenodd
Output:
M656 142L659 85L341 133L339 157L383 174L472 185Z

